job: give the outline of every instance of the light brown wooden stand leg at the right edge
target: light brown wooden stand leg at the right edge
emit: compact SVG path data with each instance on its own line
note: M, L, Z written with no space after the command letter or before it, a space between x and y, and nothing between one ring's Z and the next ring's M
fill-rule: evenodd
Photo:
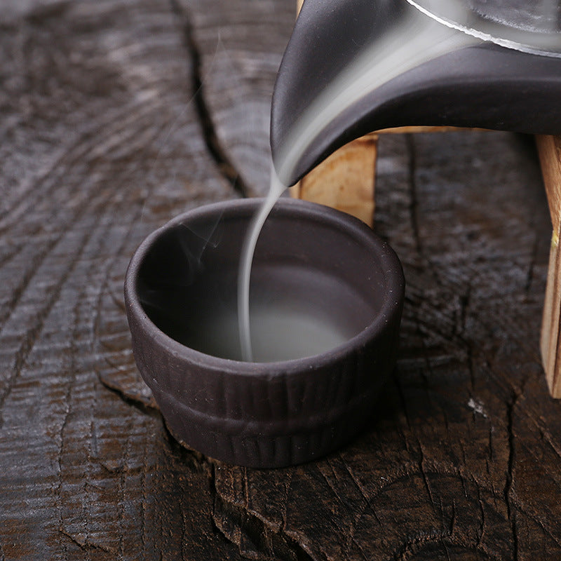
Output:
M561 137L538 136L536 144L553 224L541 323L541 360L551 396L561 398Z

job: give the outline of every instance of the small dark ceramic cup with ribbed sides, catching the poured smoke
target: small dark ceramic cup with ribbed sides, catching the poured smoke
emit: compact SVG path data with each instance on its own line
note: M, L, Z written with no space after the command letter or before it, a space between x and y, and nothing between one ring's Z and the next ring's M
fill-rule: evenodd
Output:
M209 318L236 315L241 246L258 206L208 205L155 231L130 262L125 299L138 369L173 435L264 468L321 457L363 428L395 365L405 281L395 252L358 219L282 198L257 243L252 304L309 313L346 340L269 363L213 356L222 327ZM222 347L214 354L237 358Z

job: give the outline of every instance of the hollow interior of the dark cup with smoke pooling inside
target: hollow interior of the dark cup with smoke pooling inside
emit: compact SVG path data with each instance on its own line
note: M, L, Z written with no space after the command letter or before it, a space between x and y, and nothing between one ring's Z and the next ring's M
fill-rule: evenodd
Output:
M391 297L381 242L317 205L283 201L266 220L252 265L255 362L315 356L344 345ZM257 208L234 205L172 222L144 254L137 295L149 319L180 344L241 360L238 264ZM376 238L377 239L377 238Z

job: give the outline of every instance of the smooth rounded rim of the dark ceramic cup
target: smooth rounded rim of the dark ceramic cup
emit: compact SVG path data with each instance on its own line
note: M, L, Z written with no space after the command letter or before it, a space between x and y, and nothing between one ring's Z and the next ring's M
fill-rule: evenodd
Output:
M255 212L263 200L263 198L229 199L227 201L210 203L187 210L187 212L177 215L163 224L163 226L151 232L151 234L140 243L133 257L130 259L126 271L124 283L125 302L127 312L133 314L137 322L142 325L142 330L144 332L149 332L150 338L154 344L167 349L168 352L172 353L176 358L187 360L189 363L210 370L248 375L250 377L259 375L270 377L274 374L290 374L290 372L296 373L318 370L325 365L334 363L350 353L359 351L361 348L364 348L368 342L372 342L380 337L384 334L386 325L393 324L391 318L397 314L400 315L405 296L405 278L403 276L402 265L396 252L386 241L377 236L377 234L360 221L360 219L348 215L345 212L318 203L281 197L273 208L273 215L278 212L285 212L295 217L300 216L306 219L314 219L318 222L323 222L331 227L344 230L346 234L360 239L360 241L369 245L371 250L374 250L371 255L380 262L381 269L384 272L384 280L386 281L386 292L382 299L381 308L377 315L372 318L372 322L358 334L347 339L344 343L323 353L269 363L248 362L212 356L177 342L163 332L144 311L136 290L140 266L156 240L166 232L177 227L178 224L184 224L186 221L192 219L224 214L225 212L229 212L231 216L246 215L248 210ZM392 292L387 290L388 287L393 287Z

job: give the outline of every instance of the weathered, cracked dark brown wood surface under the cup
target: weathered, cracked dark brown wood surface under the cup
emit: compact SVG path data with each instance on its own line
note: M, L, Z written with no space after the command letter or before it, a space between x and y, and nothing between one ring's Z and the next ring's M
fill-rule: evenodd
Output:
M561 404L539 358L550 219L525 139L381 137L401 352L344 450L218 464L174 442L140 384L128 259L178 212L263 191L293 18L293 0L4 3L1 560L561 557Z

